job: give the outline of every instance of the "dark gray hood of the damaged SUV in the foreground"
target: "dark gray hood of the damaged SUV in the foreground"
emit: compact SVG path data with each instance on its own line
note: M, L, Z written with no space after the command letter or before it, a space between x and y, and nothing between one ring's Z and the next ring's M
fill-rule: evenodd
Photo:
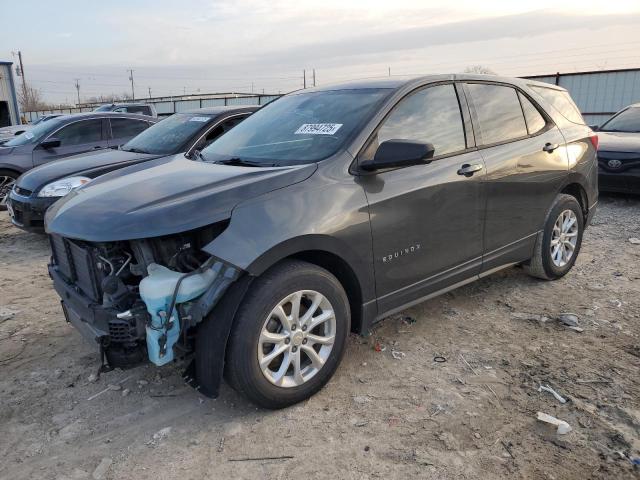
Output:
M238 203L301 182L317 166L214 165L177 155L137 167L100 177L54 203L47 232L92 242L185 232L226 220Z

